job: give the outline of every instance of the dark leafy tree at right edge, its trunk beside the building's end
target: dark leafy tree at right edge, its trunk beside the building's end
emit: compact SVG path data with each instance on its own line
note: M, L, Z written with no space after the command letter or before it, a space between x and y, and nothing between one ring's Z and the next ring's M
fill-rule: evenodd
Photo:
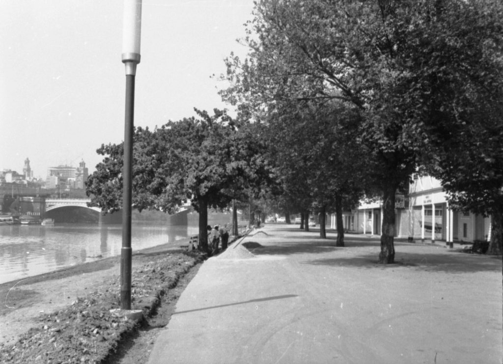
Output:
M465 123L448 141L432 146L432 161L425 164L442 181L451 208L491 217L487 253L492 255L503 253L502 100L491 104L480 100L478 112L459 115Z

